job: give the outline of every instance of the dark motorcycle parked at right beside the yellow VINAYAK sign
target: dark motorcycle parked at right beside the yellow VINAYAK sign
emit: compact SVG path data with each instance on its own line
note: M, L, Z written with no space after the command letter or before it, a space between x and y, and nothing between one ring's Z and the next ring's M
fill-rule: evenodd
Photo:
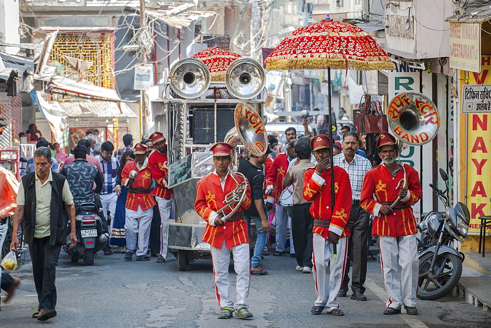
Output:
M454 241L469 240L470 212L467 206L458 202L449 207L448 175L440 168L446 190L441 191L430 183L430 187L445 204L445 212L431 211L419 223L421 232L417 239L419 279L417 297L420 300L437 300L447 295L459 282L462 274L464 253L452 247Z

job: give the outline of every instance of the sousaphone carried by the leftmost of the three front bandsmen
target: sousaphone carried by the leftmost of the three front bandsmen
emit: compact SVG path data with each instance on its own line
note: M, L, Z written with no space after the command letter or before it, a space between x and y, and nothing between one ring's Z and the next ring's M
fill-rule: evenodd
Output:
M258 113L248 104L240 103L235 107L235 127L230 129L225 135L224 142L235 148L239 142L246 147L247 151L254 156L263 156L266 154L268 142L266 139L266 129L263 121ZM232 163L235 162L235 151L232 155ZM217 211L218 215L223 215L221 220L225 222L230 219L246 199L246 190L248 187L247 179L240 172L232 172L229 167L229 174L237 183L237 188L230 191L225 196L225 205ZM239 176L243 181L236 178ZM244 191L240 191L241 186L244 186ZM234 207L235 205L235 207ZM228 214L225 211L232 209Z

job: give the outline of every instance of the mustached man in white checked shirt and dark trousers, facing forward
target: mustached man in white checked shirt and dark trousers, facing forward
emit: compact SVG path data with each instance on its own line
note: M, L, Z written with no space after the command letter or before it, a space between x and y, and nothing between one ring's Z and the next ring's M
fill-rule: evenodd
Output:
M352 202L351 214L348 221L351 238L348 242L348 258L346 269L344 271L343 285L339 291L339 297L346 297L348 293L348 282L350 277L350 262L353 261L353 273L351 289L353 294L352 300L366 301L365 283L367 275L367 252L368 238L370 235L369 220L370 214L360 207L361 186L365 174L372 169L372 164L366 158L357 155L358 134L354 131L348 131L343 135L343 152L334 156L334 165L344 168L350 176ZM352 253L353 248L353 253Z

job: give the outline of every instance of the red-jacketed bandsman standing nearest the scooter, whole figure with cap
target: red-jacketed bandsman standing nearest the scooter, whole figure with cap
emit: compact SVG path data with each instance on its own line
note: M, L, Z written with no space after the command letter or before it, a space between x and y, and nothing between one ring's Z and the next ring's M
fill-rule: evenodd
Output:
M121 185L128 187L126 198L125 236L128 251L125 261L131 261L136 252L136 261L149 261L147 256L152 223L153 207L157 204L151 194L152 172L147 167L147 146L135 145L135 160L126 164L121 172ZM137 173L136 177L131 172ZM136 237L138 235L138 237ZM138 245L138 251L136 251Z

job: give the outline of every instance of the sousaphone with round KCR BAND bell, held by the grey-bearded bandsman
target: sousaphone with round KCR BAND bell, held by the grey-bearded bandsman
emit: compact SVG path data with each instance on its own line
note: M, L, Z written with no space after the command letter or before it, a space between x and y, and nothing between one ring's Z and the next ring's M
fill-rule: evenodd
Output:
M401 92L392 98L387 107L387 122L392 134L399 140L397 157L405 144L422 146L432 141L440 124L435 103L424 94L411 91ZM406 187L406 169L404 165L402 168L404 179L401 180L401 187ZM398 188L401 181L397 184ZM400 200L401 197L397 197L390 208L394 208Z

